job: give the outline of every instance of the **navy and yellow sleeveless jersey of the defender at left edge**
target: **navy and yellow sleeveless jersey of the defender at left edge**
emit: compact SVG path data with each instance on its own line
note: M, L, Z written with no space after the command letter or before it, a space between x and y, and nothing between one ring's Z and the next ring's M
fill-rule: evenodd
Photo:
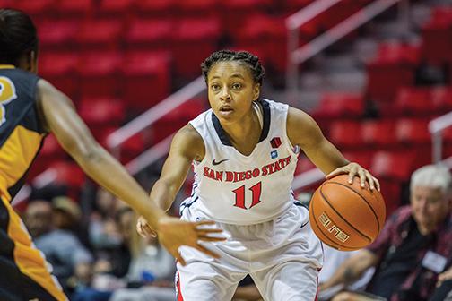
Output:
M22 187L46 135L36 106L39 77L0 64L0 197L10 202Z

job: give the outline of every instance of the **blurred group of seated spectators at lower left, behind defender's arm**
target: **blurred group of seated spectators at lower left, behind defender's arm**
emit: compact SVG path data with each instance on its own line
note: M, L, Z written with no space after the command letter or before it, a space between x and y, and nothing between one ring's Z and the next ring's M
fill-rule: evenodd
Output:
M135 212L103 190L90 212L82 208L78 200L57 195L34 198L22 212L67 296L75 301L174 300L174 259L157 238L138 236Z

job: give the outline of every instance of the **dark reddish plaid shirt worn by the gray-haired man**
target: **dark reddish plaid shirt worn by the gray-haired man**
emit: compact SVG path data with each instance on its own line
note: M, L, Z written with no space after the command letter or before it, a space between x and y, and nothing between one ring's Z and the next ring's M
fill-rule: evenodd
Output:
M404 206L395 211L395 213L387 219L385 227L379 234L377 240L369 245L367 249L374 254L377 254L379 262L377 265L376 274L379 270L385 269L385 258L388 254L394 254L398 246L404 243L408 232L413 225L415 226L412 217L412 210L410 206ZM413 291L413 287L419 294L420 300L427 300L435 289L438 273L430 271L422 267L422 259L427 251L432 251L447 258L448 262L444 270L447 270L452 263L452 217L449 215L448 219L431 234L431 243L419 250L417 261L413 271L404 280L399 290L395 291L390 301L413 300L413 295L408 296L407 292ZM372 284L370 281L369 285Z

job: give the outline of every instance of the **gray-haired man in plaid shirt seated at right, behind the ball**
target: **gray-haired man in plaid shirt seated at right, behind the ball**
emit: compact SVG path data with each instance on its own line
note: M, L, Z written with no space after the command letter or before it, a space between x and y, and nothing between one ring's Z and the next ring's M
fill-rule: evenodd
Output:
M343 292L333 300L430 300L444 289L452 279L451 183L447 168L417 169L411 178L411 204L395 211L377 240L343 262L320 289L357 280L370 267L376 272L364 294Z

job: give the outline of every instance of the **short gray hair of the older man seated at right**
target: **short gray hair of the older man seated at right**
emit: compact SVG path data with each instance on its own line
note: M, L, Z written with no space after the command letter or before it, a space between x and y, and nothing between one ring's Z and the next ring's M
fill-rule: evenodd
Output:
M415 186L440 188L445 194L451 193L452 176L443 165L426 165L416 169L411 177L410 190Z

